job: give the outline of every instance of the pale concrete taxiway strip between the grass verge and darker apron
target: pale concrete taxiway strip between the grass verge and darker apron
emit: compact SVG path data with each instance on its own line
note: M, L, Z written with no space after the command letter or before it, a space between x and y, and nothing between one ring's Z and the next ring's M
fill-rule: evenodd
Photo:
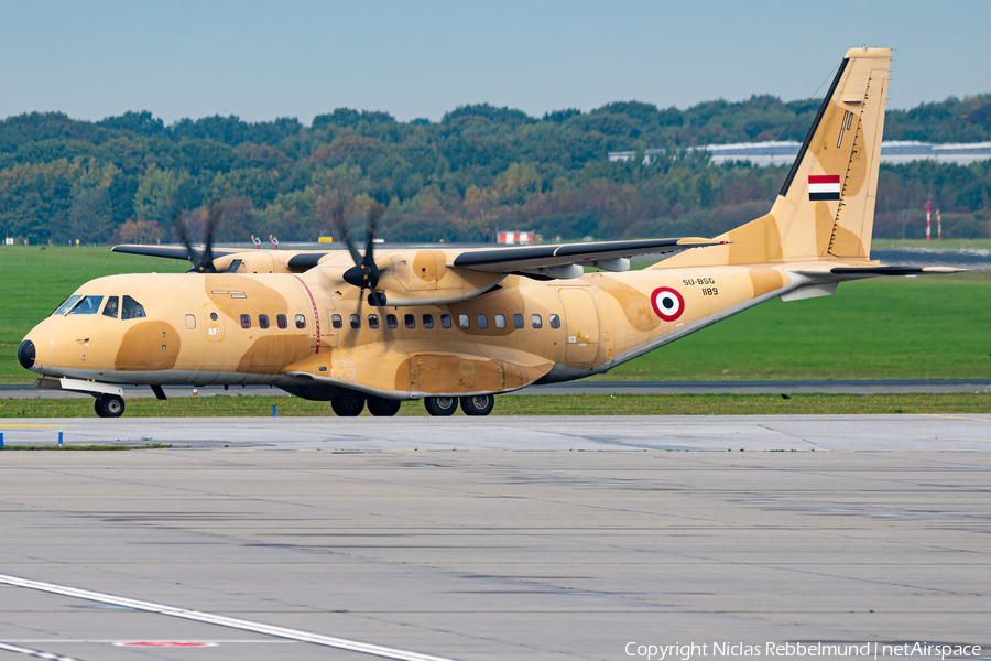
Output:
M2 419L8 445L379 451L991 449L991 414Z

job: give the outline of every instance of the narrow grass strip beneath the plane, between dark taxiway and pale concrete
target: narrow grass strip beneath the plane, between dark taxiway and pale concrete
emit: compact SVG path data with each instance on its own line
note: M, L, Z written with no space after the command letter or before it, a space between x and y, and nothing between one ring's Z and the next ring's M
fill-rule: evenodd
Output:
M327 402L249 395L129 399L128 418L334 416ZM991 413L991 394L569 394L500 397L492 415L812 415L867 413ZM401 416L426 416L421 402L403 402ZM369 416L368 411L362 415ZM460 411L456 415L464 415ZM92 400L0 400L4 418L94 418ZM0 423L0 431L3 424Z

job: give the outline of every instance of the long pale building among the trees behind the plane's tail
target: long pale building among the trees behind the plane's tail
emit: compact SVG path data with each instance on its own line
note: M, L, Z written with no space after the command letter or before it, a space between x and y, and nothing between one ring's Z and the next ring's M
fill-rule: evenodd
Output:
M801 142L738 142L736 144L707 144L701 149L709 152L711 162L718 164L727 161L748 161L758 166L791 165L798 155ZM644 163L663 149L644 150ZM633 151L609 152L610 161L629 161L636 155ZM959 144L935 144L933 142L915 142L913 140L889 140L881 143L882 163L910 163L932 159L939 163L969 165L976 161L991 159L991 142L971 142Z

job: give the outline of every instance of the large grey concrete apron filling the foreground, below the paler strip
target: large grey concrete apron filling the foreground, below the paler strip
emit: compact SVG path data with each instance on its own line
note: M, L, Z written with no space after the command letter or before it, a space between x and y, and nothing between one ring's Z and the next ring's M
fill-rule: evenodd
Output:
M936 429L899 418L852 422L862 436ZM973 418L939 424L988 449L991 416ZM622 433L617 419L585 422ZM988 658L987 452L512 452L504 440L0 453L0 651L566 661L918 641Z

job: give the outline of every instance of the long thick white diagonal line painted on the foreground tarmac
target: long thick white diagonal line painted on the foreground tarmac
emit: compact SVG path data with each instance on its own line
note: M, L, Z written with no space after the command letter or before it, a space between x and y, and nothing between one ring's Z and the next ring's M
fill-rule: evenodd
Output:
M77 599L86 599L88 602L100 602L102 604L124 606L127 608L133 608L134 610L144 610L145 613L167 615L170 617L178 617L197 622L217 625L219 627L241 629L243 631L253 631L255 633L264 633L265 636L274 636L275 638L286 638L288 640L298 640L300 642L309 642L313 644L337 648L339 650L349 650L352 652L371 654L373 657L382 657L384 659L398 659L399 661L451 661L451 659L445 659L443 657L433 657L431 654L422 654L420 652L398 650L394 648L382 647L380 644L372 644L370 642L360 642L357 640L348 640L346 638L334 638L331 636L320 636L319 633L300 631L298 629L287 629L285 627L276 627L274 625L252 622L249 620L225 617L222 615L215 615L211 613L200 613L199 610L188 610L186 608L166 606L164 604L155 604L153 602L141 602L138 599L129 599L128 597L117 597L104 593L90 592L88 589L79 589L77 587L55 585L54 583L29 581L28 578L9 576L7 574L0 574L0 583L13 585L17 587L26 587L28 589L37 589L56 595L64 595L67 597L76 597ZM42 658L62 659L62 657Z

